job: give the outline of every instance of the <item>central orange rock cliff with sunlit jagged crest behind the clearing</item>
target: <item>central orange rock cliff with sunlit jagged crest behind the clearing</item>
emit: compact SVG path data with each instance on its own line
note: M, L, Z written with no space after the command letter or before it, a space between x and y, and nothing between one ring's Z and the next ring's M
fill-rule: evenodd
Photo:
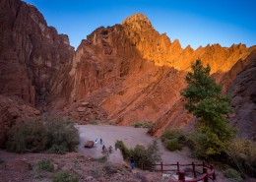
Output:
M82 123L152 121L154 135L160 136L166 127L187 127L193 120L180 96L193 61L210 64L221 81L250 52L243 44L183 49L178 40L171 42L155 30L145 15L135 14L121 25L98 28L82 41L69 72L71 103L64 110Z

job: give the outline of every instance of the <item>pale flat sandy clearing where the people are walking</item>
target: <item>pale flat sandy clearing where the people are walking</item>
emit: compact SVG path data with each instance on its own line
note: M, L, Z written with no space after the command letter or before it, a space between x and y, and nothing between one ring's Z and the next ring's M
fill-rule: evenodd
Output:
M99 139L103 141L103 145L106 148L112 146L113 152L109 154L109 160L111 162L123 163L123 157L119 150L114 150L114 143L116 140L124 142L126 147L133 148L136 145L148 146L155 139L147 135L147 129L134 128L129 126L111 126L111 125L77 125L80 132L80 145L78 152L84 154L90 154L93 157L102 155L102 145L99 144ZM94 148L84 148L84 144L87 141L96 141L97 144ZM190 163L196 161L196 159L189 158L189 150L184 149L181 152L168 152L164 149L160 140L158 140L163 163Z

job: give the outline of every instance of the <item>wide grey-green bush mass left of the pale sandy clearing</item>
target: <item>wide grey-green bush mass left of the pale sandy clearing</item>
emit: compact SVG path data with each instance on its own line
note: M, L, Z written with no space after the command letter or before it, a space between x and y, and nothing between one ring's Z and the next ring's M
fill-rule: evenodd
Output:
M11 152L74 151L79 144L74 124L60 118L42 118L19 122L8 133L7 150Z

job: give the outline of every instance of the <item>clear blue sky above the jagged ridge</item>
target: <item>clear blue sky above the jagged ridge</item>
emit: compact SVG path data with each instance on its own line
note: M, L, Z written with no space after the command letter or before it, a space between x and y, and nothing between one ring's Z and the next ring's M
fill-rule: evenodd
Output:
M113 26L134 13L145 14L156 30L185 48L220 43L256 44L256 0L24 0L49 26L69 35L72 46L100 26Z

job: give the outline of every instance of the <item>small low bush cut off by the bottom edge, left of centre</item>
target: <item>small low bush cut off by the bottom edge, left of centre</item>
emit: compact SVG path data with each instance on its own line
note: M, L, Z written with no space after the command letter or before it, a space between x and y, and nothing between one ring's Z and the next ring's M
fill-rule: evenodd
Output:
M78 182L78 177L67 170L61 170L53 174L52 176L53 182Z

